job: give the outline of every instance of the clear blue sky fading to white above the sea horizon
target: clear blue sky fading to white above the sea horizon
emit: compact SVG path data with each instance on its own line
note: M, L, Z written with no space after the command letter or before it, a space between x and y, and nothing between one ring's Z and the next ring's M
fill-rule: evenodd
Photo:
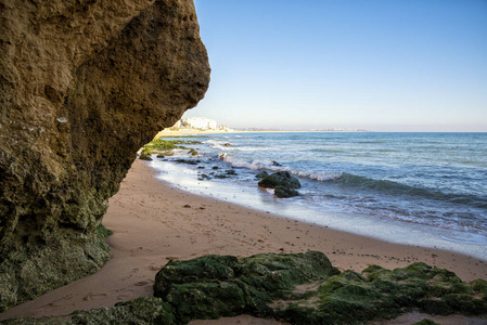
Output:
M184 116L234 128L487 132L487 1L195 0L212 65Z

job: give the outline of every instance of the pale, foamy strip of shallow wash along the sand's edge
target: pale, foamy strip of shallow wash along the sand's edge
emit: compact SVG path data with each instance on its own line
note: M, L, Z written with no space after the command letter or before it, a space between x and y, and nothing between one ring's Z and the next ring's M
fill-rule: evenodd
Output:
M480 240L477 238L487 239L483 235L462 232L457 229L437 227L433 224L377 218L354 212L322 211L309 202L294 204L292 198L275 199L273 195L264 188L257 187L255 183L246 186L242 183L235 185L234 183L202 182L200 178L197 179L198 181L194 181L196 176L191 174L191 171L185 166L178 166L178 164L171 162L166 164L158 159L152 160L150 166L159 171L157 179L167 182L169 186L188 191L195 195L217 198L220 202L232 203L241 207L267 211L284 219L297 220L298 222L318 226L328 226L335 231L370 237L385 243L409 246L415 246L416 243L421 243L421 246L425 248L454 251L487 261L487 246L484 243L475 242ZM188 172L191 176L188 176Z

